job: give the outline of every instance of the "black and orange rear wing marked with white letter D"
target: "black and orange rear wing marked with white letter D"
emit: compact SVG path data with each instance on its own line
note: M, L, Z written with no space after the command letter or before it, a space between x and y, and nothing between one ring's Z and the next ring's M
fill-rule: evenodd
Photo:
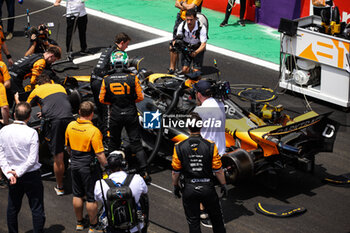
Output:
M280 154L317 154L332 152L339 124L331 113L308 112L286 126L262 126L249 130L250 137L263 149L264 156Z

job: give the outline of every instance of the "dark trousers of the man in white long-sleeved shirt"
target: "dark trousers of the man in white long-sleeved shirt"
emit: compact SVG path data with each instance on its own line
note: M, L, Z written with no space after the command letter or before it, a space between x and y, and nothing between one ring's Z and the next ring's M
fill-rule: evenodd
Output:
M33 232L44 232L44 187L41 181L40 171L24 174L17 179L15 185L9 185L7 206L7 226L9 233L18 233L18 213L22 206L24 194L27 195L30 209L32 210Z

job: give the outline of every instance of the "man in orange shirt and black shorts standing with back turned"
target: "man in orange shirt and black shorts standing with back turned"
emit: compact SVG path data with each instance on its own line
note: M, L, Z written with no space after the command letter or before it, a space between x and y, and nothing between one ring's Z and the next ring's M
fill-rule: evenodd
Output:
M92 124L94 104L85 101L79 107L80 117L71 122L66 130L66 146L71 154L73 207L77 218L76 230L84 228L83 203L86 196L86 209L90 218L89 232L95 232L97 225L97 202L94 197L98 167L95 155L102 166L107 165L101 132Z

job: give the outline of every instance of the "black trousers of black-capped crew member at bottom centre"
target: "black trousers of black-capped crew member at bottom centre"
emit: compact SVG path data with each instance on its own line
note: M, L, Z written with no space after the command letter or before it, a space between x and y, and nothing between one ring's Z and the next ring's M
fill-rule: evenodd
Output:
M219 197L215 191L213 184L186 183L182 194L182 203L184 206L190 233L201 232L199 209L200 203L204 205L209 215L209 218L213 224L213 232L226 232Z

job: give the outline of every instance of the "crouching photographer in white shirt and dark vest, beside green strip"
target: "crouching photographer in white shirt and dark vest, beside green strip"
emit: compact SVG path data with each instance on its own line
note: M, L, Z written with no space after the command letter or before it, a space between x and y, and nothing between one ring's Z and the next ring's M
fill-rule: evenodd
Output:
M193 62L193 71L200 71L203 64L204 52L207 44L207 29L200 25L195 9L186 12L186 20L177 28L173 46L182 52L182 73L190 72Z

